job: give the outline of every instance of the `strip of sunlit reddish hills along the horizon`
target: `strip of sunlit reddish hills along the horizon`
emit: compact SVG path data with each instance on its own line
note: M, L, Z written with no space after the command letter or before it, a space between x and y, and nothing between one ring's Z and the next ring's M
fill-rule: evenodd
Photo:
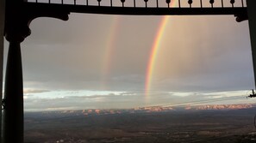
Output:
M255 108L255 109L254 109ZM39 117L54 118L57 116L95 116L95 115L116 115L116 114L133 114L133 113L157 113L157 112L177 112L177 111L200 111L200 110L256 110L254 104L208 104L196 106L183 107L164 107L164 106L148 106L138 107L134 109L90 109L90 110L57 110L57 111L43 111ZM36 113L38 114L38 113ZM27 113L27 116L33 113Z

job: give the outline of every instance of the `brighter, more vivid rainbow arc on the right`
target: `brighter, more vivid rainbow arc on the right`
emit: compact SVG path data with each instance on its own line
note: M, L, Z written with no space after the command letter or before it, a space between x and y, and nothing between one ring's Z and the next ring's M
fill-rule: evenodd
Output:
M172 7L174 7L175 5L175 0L172 1L171 3L171 9ZM150 90L151 90L151 86L152 86L152 82L153 82L153 72L154 72L154 66L156 64L157 61L157 57L158 57L158 53L161 47L161 39L163 38L163 35L165 33L165 27L168 23L169 20L169 16L165 15L162 17L160 24L159 24L159 28L158 31L156 33L156 36L153 40L153 46L151 48L151 52L150 52L150 56L147 62L147 71L146 71L146 80L145 80L145 96L148 97Z

